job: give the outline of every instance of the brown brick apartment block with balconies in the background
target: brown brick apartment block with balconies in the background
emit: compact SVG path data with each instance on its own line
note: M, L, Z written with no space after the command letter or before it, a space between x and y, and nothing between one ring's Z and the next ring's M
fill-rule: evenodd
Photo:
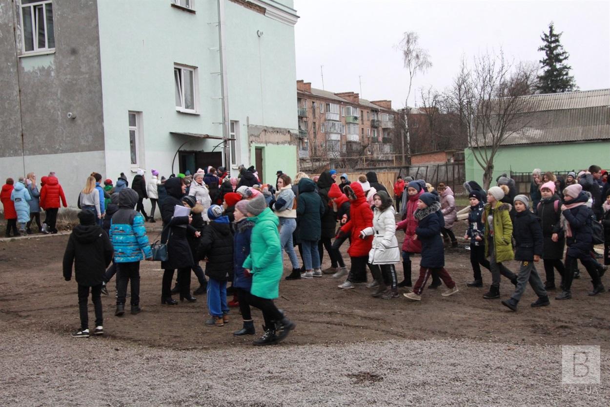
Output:
M301 165L341 158L392 160L397 112L392 101L368 101L354 92L334 93L296 81Z

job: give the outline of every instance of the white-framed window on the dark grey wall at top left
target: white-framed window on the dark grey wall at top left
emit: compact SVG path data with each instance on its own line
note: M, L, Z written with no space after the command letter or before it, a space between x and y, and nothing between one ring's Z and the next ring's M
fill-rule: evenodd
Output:
M55 49L51 0L21 0L24 53Z

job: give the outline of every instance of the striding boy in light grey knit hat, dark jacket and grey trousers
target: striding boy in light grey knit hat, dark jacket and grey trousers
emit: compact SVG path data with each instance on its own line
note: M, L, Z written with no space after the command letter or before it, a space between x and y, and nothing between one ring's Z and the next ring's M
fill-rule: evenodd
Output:
M538 218L529 211L529 199L525 195L517 195L513 200L516 215L513 221L512 235L517 242L515 244L515 260L521 262L519 274L517 275L517 287L511 298L503 299L502 304L511 310L517 310L517 303L525 291L525 285L529 281L534 292L538 296L532 307L544 307L548 301L547 290L544 289L542 280L536 271L534 263L540 261L542 255L542 228Z

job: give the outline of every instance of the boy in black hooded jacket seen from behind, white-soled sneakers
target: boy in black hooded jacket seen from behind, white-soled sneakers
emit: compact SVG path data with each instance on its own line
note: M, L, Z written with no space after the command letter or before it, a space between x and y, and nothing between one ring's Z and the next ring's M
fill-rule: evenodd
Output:
M89 337L89 316L87 300L91 287L91 302L95 307L94 335L104 333L102 317L102 282L106 267L112 260L112 243L106 232L97 224L95 213L82 210L78 214L80 225L76 226L68 239L68 246L63 255L63 277L66 281L72 278L72 265L78 283L78 306L81 314L81 329L72 334L77 338Z

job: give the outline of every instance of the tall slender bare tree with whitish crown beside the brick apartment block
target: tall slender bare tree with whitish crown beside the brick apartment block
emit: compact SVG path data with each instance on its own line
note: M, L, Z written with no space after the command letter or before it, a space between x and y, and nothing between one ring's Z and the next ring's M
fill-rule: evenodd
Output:
M408 111L409 97L411 96L411 87L413 85L413 78L417 73L424 73L432 67L430 61L430 55L428 50L424 50L419 46L419 35L415 31L407 31L403 35L403 39L397 46L398 50L403 54L403 65L407 71L409 71L409 87L407 88L407 97L404 102L405 114ZM405 117L405 129L407 138L407 155L410 155L409 145L409 125L408 120ZM404 137L402 139L402 152L403 152L403 163L404 163Z

